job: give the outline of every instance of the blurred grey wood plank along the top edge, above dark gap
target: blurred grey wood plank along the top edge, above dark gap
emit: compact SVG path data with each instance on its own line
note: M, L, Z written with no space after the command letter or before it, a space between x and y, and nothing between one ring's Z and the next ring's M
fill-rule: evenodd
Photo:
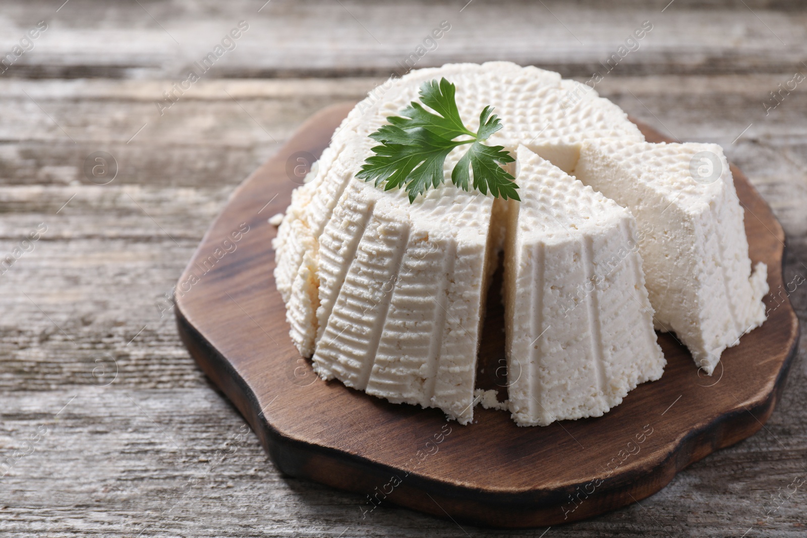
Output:
M512 60L589 77L646 20L653 30L613 73L787 72L807 51L795 2L52 3L4 6L0 50L40 20L48 30L3 77L184 78L241 20L249 30L203 77L387 75L443 20L450 31L417 67Z

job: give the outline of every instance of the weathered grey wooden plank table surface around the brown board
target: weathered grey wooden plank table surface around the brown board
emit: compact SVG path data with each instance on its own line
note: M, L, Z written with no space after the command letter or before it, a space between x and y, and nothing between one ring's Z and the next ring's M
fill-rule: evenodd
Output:
M641 504L512 532L388 506L362 519L358 494L283 477L190 360L165 294L228 194L443 20L418 67L502 59L580 81L650 21L596 89L722 144L784 225L785 282L807 277L807 81L770 94L807 75L800 2L4 0L0 536L805 536L804 344L755 436ZM115 159L106 185L86 172L94 152ZM805 288L790 294L803 323Z

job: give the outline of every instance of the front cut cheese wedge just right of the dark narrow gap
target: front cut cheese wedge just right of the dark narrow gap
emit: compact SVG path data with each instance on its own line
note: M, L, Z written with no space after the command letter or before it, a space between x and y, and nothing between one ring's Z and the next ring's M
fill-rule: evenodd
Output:
M600 416L659 379L633 216L528 148L504 248L512 417L522 426Z

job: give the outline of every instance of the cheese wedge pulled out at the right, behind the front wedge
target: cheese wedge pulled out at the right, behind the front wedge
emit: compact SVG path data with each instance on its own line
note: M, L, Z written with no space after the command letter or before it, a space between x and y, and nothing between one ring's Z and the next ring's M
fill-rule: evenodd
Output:
M583 144L575 175L636 217L655 323L711 375L723 350L763 323L768 290L764 264L751 274L721 147L597 140Z

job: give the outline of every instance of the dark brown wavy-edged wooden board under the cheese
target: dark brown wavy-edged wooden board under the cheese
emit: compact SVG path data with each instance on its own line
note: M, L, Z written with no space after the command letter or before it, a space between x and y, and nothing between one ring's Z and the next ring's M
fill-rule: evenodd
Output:
M267 219L286 210L291 191L352 106L320 111L238 187L175 293L190 354L283 473L358 492L358 519L395 503L495 527L554 525L646 498L693 461L763 427L780 398L799 329L782 282L784 231L734 166L751 261L768 267L769 317L723 353L713 377L662 334L661 380L639 386L600 418L548 427L516 427L508 412L482 407L473 424L460 426L441 411L319 380L288 336L272 277L277 228ZM639 127L647 140L667 140ZM499 390L504 400L499 289L493 282L477 384Z

